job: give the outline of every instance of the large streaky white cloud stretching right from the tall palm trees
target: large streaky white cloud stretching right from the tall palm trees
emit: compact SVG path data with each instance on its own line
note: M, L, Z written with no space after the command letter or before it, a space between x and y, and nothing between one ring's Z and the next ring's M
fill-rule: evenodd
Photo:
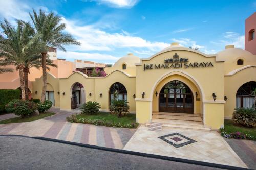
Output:
M122 31L122 33L108 33L100 30L94 25L78 26L77 22L66 20L62 18L66 23L66 31L74 35L81 46L72 47L73 50L88 51L111 51L115 48L146 48L151 51L159 51L168 46L164 42L151 42L141 37L131 36L128 32Z

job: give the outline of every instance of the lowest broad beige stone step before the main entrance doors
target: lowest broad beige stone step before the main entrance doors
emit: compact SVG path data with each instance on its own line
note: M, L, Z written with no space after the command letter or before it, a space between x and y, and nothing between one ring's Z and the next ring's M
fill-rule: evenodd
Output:
M211 130L209 127L203 125L202 122L186 121L186 120L170 120L152 118L151 123L161 123L163 127L197 129L197 130ZM150 126L150 124L146 124Z

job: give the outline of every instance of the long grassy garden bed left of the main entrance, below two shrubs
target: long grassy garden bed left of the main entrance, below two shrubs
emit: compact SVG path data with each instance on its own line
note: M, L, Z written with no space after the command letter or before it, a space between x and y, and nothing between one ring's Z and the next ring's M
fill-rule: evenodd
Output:
M92 115L72 114L71 116L67 117L67 120L69 122L119 128L137 128L139 125L136 123L136 114L127 114L119 118L117 115L110 114L109 112L98 112Z

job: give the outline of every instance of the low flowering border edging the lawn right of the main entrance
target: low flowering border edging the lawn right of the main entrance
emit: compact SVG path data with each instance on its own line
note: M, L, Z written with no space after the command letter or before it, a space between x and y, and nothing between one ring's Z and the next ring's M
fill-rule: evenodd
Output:
M221 136L223 136L225 138L256 140L256 137L253 135L244 134L242 132L227 133L224 128L220 128L219 132L221 133Z

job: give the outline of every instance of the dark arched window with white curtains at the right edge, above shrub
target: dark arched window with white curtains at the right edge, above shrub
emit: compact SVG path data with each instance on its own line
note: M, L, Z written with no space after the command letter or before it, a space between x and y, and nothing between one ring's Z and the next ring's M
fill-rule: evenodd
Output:
M252 107L254 104L255 96L252 91L256 88L256 82L250 81L243 84L237 91L236 108Z

